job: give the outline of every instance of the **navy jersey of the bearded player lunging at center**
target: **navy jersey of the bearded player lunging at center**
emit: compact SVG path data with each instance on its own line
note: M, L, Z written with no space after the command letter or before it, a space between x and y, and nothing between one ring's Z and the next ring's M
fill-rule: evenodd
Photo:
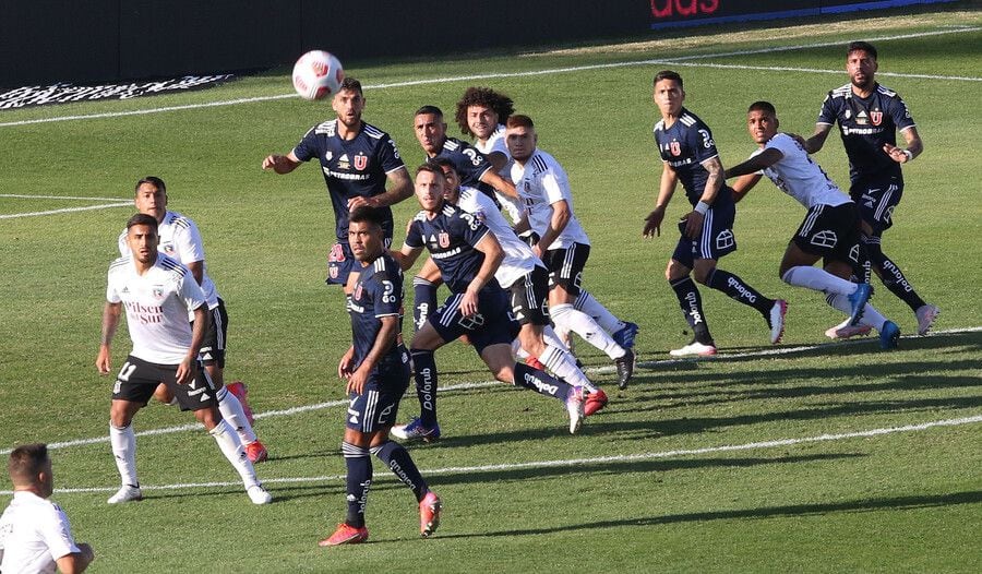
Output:
M455 294L464 292L484 262L484 254L474 249L486 235L488 227L474 215L450 203L433 219L427 212L419 212L409 225L406 244L426 247L440 267L443 283ZM498 286L493 278L490 285Z

